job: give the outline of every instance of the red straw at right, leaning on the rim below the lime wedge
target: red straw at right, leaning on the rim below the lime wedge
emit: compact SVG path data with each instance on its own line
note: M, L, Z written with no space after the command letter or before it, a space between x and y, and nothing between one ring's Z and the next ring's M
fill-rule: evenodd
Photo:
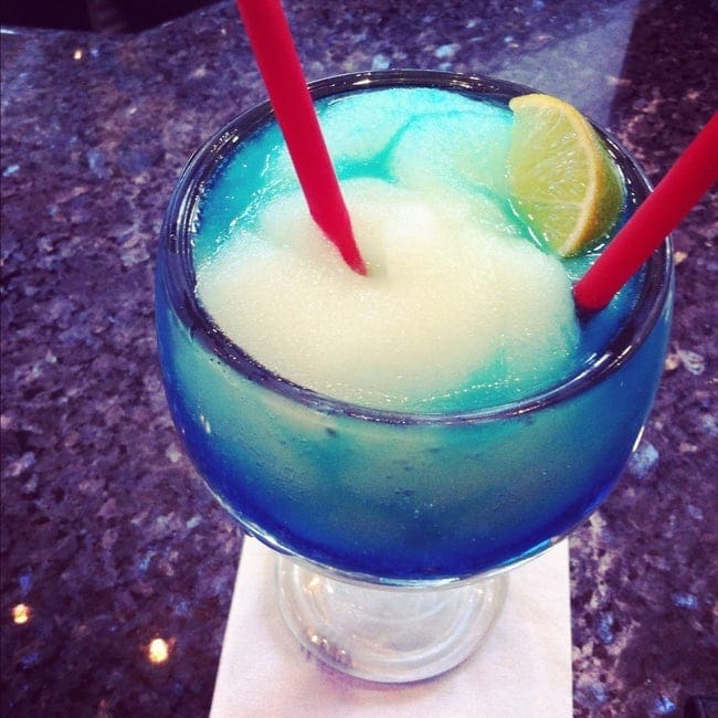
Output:
M603 309L718 180L718 113L573 287L580 310Z

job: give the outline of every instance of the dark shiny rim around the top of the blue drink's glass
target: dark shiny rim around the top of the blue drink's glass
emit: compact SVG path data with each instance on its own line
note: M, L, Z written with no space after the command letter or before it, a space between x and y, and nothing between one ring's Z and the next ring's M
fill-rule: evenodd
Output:
M334 75L309 83L315 99L352 91L397 86L439 87L482 93L498 101L536 92L516 83L481 75L426 70L367 71ZM665 239L663 245L644 265L645 277L637 300L627 319L604 350L592 357L588 366L563 377L550 387L516 401L464 411L402 412L334 399L281 377L229 339L201 306L194 292L192 254L192 226L203 183L226 156L225 149L231 148L240 139L251 136L267 122L273 120L273 117L270 102L262 102L226 123L194 152L171 194L159 246L165 262L160 263L163 271L158 273L157 281L163 284L177 316L194 340L200 340L218 359L250 381L261 383L270 391L319 412L348 415L377 423L420 425L492 422L530 414L596 386L629 361L658 320L673 278L671 236ZM608 131L595 124L593 126L619 163L626 184L640 200L645 199L652 186L636 160Z

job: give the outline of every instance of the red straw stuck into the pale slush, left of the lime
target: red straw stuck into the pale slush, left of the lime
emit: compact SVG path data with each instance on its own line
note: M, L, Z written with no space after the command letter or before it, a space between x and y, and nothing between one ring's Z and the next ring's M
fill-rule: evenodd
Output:
M309 212L345 262L366 267L279 0L236 0Z

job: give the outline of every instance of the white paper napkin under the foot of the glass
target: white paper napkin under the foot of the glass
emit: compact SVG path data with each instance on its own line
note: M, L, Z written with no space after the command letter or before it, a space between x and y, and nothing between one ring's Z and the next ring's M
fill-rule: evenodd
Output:
M246 538L211 718L570 718L568 541L509 573L506 604L478 652L415 684L346 676L300 647L285 626L274 555Z

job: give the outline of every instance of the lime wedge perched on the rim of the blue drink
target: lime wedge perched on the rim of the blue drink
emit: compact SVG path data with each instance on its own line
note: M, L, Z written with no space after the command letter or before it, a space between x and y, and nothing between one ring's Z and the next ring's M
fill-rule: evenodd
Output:
M516 211L561 256L603 237L623 205L623 180L591 124L549 95L509 103L508 181Z

